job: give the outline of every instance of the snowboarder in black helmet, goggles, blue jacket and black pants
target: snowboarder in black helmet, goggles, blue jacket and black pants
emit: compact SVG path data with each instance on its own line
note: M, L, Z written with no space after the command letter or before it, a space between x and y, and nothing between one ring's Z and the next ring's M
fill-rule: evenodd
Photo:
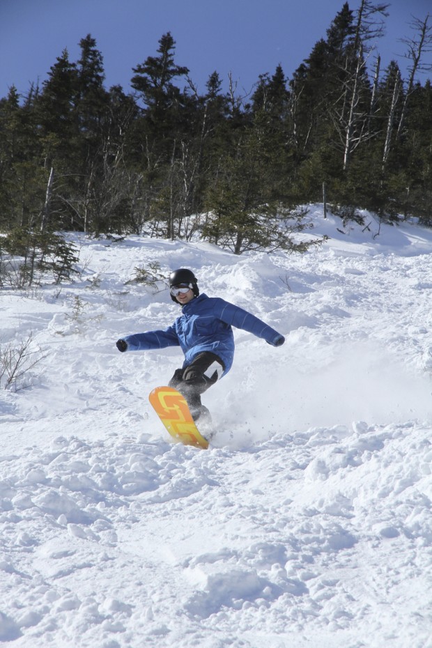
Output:
M180 346L185 354L181 369L169 381L185 396L195 421L210 418L201 404L201 394L231 369L234 356L235 326L272 346L284 344L283 335L259 318L221 298L200 295L192 272L179 268L169 276L171 299L180 304L182 314L165 330L134 333L116 342L119 351L141 351Z

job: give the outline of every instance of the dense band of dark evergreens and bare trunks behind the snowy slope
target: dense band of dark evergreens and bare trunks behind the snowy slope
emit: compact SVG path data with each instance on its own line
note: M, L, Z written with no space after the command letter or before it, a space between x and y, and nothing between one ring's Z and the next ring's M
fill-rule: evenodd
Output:
M430 16L412 19L404 79L371 45L388 7L344 3L291 78L278 65L247 96L217 72L199 93L171 33L133 68L129 94L105 87L90 34L78 61L63 50L41 87L0 100L0 261L1 245L36 233L52 245L58 231L292 249L299 206L323 185L344 217L432 225L432 88L419 80L432 70Z

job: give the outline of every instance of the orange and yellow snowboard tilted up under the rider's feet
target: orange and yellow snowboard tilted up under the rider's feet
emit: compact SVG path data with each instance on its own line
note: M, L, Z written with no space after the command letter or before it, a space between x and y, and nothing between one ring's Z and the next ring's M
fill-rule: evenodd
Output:
M155 387L148 400L173 439L184 445L208 448L208 440L199 433L189 406L177 389Z

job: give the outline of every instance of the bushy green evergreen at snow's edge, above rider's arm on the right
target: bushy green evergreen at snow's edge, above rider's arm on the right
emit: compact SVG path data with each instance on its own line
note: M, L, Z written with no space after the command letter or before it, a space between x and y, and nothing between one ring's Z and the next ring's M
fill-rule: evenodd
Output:
M293 242L302 215L293 215L275 183L275 151L267 137L262 109L236 131L236 147L220 159L206 190L208 221L203 236L242 254L251 249L305 249ZM307 247L307 246L306 246Z

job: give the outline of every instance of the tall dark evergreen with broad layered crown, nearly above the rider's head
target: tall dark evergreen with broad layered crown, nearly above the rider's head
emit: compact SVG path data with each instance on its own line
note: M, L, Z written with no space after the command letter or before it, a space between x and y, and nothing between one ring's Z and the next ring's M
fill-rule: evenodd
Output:
M190 169L196 161L191 137L198 103L175 79L189 70L176 65L176 42L171 33L159 40L159 56L148 56L134 68L132 87L144 102L144 111L135 124L137 164L144 170L148 192L144 203L148 217L166 222L166 234L174 236L174 221L189 210ZM186 181L186 185L185 185ZM184 191L180 186L187 187Z

